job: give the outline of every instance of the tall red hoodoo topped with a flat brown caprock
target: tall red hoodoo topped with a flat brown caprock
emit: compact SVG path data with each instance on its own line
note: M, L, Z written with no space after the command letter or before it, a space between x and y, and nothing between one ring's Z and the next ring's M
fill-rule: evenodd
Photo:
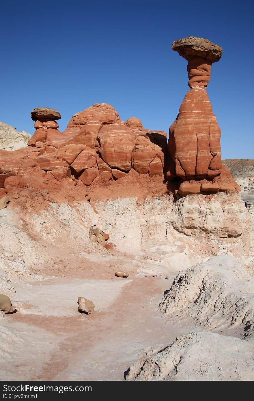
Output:
M172 49L188 61L190 87L169 129L168 150L175 163L175 175L183 181L211 180L221 173L221 130L206 87L211 64L219 61L222 49L194 36L175 41ZM199 192L197 183L186 182L181 186L188 187L190 193Z

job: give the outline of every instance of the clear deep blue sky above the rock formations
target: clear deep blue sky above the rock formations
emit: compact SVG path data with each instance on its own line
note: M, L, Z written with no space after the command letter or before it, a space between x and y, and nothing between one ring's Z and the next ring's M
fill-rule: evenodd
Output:
M120 118L164 130L188 91L186 36L223 48L207 93L222 131L222 158L254 158L252 1L2 1L0 120L33 134L30 112L71 116L110 103Z

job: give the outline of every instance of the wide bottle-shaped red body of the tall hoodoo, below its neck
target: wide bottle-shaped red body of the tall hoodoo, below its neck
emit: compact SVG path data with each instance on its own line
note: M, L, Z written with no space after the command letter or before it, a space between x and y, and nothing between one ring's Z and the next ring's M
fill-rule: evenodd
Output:
M218 175L221 172L220 136L206 90L190 89L169 130L168 150L176 165L176 175L181 178Z

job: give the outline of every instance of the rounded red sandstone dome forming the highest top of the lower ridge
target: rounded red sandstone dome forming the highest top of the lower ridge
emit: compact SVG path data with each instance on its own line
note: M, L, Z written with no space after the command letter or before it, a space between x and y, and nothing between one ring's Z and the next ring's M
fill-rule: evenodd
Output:
M77 132L89 121L100 121L102 124L118 123L119 115L110 104L95 103L83 111L74 114L64 131L64 134L77 134Z

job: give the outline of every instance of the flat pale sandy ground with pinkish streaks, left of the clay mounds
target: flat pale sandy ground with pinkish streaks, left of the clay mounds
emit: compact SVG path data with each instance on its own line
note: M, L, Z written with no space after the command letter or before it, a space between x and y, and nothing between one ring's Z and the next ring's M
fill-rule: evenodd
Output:
M30 297L33 307L26 303L27 314L9 315L2 325L15 333L16 340L5 355L1 379L123 380L124 371L144 348L167 345L185 332L171 326L157 311L162 294L170 285L165 276L138 274L132 279L114 277L84 282L55 277L20 284L17 295L24 300ZM74 295L82 294L75 293L76 288L86 288L89 296L94 291L94 314L77 312ZM58 294L62 294L60 307ZM51 299L51 311L43 314L41 305L46 295L47 302ZM69 304L72 299L75 310ZM55 310L54 305L58 305Z

